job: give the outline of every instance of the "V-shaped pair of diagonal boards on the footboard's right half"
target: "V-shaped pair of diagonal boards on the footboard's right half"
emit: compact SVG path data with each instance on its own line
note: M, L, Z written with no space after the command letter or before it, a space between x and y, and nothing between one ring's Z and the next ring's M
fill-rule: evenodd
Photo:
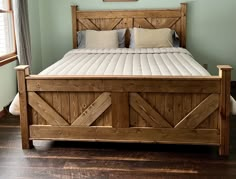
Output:
M139 94L130 94L130 106L152 127L172 128L167 120ZM211 94L185 116L174 128L196 129L208 116L219 107L219 95Z

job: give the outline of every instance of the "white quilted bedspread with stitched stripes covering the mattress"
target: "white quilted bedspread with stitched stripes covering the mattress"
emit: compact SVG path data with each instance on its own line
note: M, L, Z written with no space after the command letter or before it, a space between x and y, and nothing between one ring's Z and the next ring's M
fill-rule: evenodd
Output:
M39 75L210 76L183 48L74 49ZM232 112L236 102L231 97ZM10 112L19 115L19 97Z

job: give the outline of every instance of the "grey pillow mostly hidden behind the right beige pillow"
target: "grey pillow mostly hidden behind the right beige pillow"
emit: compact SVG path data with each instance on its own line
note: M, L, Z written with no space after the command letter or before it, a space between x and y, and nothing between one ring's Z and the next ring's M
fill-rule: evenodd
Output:
M147 29L147 30L161 30L161 29ZM129 31L130 31L130 44L129 44L129 48L135 48L134 28L129 28ZM171 35L172 35L172 46L173 47L179 47L180 46L179 36L175 32L175 30L171 30Z

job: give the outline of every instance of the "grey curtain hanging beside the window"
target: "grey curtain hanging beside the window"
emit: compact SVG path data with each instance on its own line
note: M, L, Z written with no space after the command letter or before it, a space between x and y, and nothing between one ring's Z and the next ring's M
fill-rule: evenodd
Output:
M16 47L19 63L30 65L32 61L28 0L12 0L16 29Z

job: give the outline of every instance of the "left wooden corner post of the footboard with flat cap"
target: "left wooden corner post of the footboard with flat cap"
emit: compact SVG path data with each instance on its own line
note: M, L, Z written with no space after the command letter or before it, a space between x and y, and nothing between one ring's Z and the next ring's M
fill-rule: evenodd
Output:
M22 149L30 149L33 147L33 142L29 140L29 118L28 118L28 103L25 77L29 75L29 66L20 65L15 68L17 70L18 91L20 97L20 126Z

